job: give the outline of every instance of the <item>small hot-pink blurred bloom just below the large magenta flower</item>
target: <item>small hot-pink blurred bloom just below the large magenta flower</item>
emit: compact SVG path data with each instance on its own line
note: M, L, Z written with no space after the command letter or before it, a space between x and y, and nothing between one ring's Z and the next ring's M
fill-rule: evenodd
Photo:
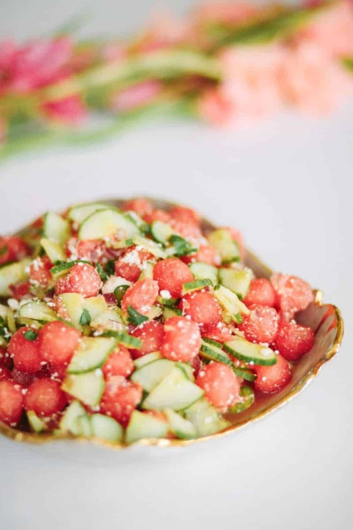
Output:
M44 103L42 110L49 119L70 125L77 125L87 116L86 107L80 96Z

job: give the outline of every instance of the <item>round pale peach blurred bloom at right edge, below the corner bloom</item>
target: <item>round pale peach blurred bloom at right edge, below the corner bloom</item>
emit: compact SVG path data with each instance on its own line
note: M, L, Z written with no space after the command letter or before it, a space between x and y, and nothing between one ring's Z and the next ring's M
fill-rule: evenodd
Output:
M288 51L281 82L284 97L311 112L332 110L353 89L352 76L320 46L305 41Z

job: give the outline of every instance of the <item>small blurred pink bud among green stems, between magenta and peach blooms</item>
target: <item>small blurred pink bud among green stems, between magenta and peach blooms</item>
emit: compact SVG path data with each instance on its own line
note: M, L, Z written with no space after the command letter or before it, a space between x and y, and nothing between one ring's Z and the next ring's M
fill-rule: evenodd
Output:
M142 107L153 101L161 90L162 84L159 81L142 81L116 92L111 100L112 108L117 111L126 111Z

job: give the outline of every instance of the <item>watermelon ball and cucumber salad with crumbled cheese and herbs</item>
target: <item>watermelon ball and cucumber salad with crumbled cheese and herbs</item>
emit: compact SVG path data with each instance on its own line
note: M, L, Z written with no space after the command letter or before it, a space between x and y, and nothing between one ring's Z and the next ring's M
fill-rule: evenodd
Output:
M245 258L236 229L142 198L0 238L0 421L115 444L227 429L314 342L311 287Z

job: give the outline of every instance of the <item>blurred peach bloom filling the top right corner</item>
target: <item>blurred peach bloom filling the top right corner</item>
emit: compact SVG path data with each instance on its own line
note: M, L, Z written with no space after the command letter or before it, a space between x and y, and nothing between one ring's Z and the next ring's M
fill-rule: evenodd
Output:
M296 36L310 41L334 57L353 55L353 2L343 0L314 17Z

